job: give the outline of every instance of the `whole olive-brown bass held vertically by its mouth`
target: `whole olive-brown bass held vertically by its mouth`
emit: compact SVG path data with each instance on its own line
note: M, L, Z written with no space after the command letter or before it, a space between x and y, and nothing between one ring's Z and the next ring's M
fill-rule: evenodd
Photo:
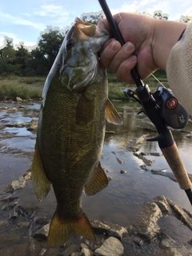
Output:
M64 244L72 234L95 239L82 210L82 192L92 196L108 184L99 158L106 121L122 124L108 99L106 70L98 51L108 30L75 18L42 90L31 178L41 201L51 186L57 207L47 244Z

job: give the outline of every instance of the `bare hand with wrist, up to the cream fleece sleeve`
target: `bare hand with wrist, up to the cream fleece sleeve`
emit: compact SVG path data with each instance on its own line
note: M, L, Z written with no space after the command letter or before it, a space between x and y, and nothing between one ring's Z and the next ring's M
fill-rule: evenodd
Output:
M184 22L166 21L140 14L115 14L114 20L126 44L121 46L111 38L100 51L100 61L104 68L109 68L119 79L128 83L134 83L130 70L136 65L142 79L159 68L166 70L170 50L186 28ZM110 30L106 19L98 22L98 26Z

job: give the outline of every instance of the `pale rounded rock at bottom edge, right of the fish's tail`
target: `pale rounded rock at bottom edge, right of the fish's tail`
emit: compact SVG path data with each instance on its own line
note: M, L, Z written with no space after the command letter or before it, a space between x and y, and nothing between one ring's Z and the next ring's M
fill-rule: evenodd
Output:
M101 247L94 251L95 256L122 256L122 243L114 237L107 238Z

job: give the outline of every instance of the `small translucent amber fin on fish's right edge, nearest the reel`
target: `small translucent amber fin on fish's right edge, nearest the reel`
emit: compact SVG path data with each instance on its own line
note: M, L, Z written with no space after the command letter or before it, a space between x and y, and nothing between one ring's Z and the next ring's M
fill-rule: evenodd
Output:
M119 116L118 111L115 110L109 98L106 101L105 116L107 122L112 122L114 125L122 125L122 118Z

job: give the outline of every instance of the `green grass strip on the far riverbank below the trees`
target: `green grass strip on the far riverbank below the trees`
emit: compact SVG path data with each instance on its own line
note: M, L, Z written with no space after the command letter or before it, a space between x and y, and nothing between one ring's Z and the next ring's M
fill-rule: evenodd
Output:
M121 82L114 74L108 73L109 80L109 98L110 99L126 99L123 90L128 87L132 90L136 89L135 85ZM165 75L158 76L158 80L166 81ZM16 100L16 97L22 99L34 99L42 97L42 88L45 77L18 77L9 75L7 77L0 76L0 100ZM158 86L158 82L154 77L147 78L145 83L150 86L150 90L154 92Z

